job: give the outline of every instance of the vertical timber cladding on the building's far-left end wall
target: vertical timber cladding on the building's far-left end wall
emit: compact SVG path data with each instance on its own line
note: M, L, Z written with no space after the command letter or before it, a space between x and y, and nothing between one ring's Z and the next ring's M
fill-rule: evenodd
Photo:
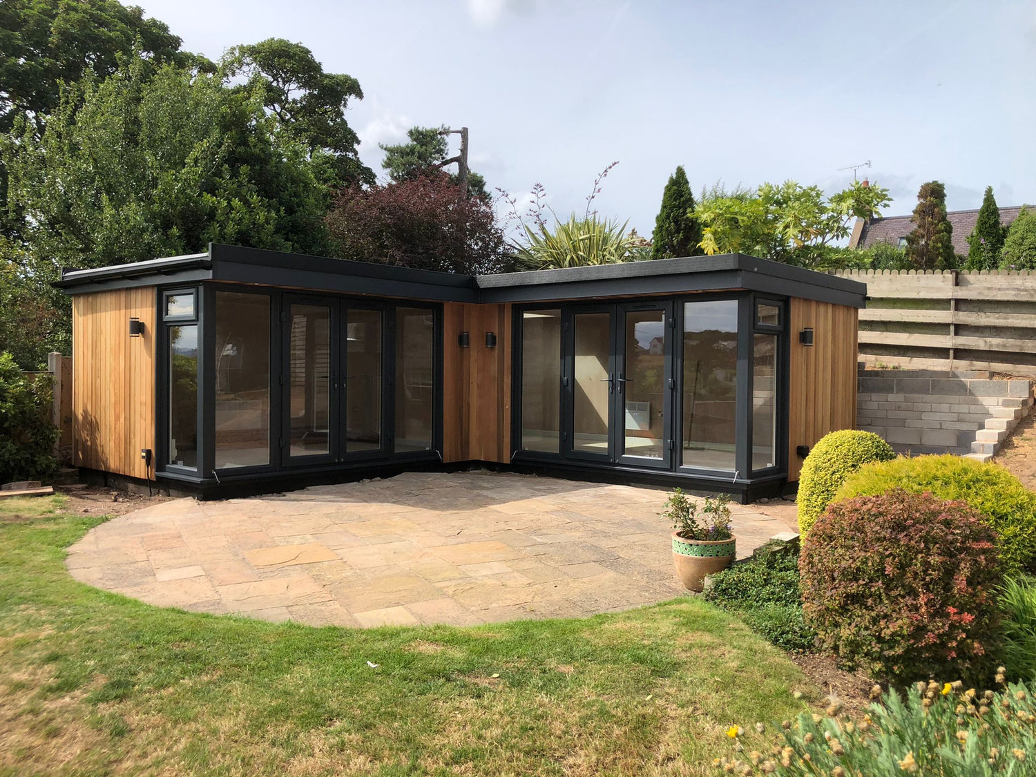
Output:
M155 289L73 297L73 435L77 466L154 480ZM130 319L144 332L130 336Z

